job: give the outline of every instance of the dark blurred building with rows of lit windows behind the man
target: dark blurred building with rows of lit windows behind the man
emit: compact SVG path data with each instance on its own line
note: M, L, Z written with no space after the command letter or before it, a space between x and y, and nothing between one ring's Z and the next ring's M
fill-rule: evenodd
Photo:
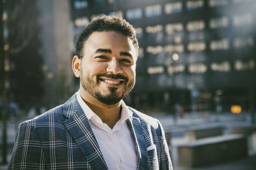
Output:
M135 108L230 111L254 103L254 0L70 0L70 7L74 42L101 14L134 25L140 56L126 100Z

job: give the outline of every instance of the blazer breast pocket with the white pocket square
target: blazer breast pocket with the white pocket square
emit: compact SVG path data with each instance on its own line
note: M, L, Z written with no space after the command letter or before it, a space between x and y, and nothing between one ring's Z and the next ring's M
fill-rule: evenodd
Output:
M156 145L149 146L147 148L148 152L148 166L150 169L159 169Z

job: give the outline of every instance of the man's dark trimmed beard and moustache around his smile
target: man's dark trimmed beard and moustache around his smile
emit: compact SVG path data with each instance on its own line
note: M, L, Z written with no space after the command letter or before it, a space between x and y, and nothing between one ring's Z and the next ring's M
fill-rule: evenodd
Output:
M106 78L112 78L112 79L118 79L121 78L125 80L124 82L124 91L121 95L118 95L116 90L118 88L116 87L108 87L109 93L108 94L102 94L100 92L100 89L98 88L100 76L104 76ZM89 76L83 75L83 70L81 69L81 76L80 76L81 85L86 92L88 92L91 96L93 96L95 99L100 101L104 104L116 104L119 101L121 101L129 92L131 92L133 86L134 86L134 80L128 81L128 78L125 76L122 76L120 74L98 74L97 80L93 80L93 78L90 78Z

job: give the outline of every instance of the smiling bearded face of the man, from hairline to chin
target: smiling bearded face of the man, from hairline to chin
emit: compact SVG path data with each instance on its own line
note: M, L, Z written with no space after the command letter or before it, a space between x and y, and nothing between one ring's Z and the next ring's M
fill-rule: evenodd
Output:
M118 103L135 83L137 56L132 41L120 32L93 32L83 50L80 88L102 103Z

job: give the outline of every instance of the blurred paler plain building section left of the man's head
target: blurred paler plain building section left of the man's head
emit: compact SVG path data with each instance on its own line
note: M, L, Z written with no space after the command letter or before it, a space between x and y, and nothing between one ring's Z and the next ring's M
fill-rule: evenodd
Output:
M67 101L74 92L70 3L68 0L44 0L37 4L44 58L44 104L52 108Z

